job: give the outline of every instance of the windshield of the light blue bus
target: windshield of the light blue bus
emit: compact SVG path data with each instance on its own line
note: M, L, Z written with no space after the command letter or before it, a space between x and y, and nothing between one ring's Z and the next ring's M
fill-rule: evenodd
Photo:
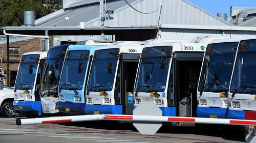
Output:
M70 50L67 52L59 89L82 90L89 53L90 50Z

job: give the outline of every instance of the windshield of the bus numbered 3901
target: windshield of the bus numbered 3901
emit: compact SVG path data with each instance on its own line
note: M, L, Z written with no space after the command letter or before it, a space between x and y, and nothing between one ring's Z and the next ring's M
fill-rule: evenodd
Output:
M95 51L87 91L99 92L113 89L118 55L119 49Z

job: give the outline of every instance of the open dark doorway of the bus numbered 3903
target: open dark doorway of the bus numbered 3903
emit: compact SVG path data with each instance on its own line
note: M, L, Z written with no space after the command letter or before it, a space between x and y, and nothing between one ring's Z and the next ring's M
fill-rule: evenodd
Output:
M188 54L188 53L187 53ZM189 53L190 54L190 53ZM196 54L201 56L202 54ZM177 116L196 117L197 84L200 76L202 59L179 59L176 54L176 95ZM196 58L197 58L196 56Z

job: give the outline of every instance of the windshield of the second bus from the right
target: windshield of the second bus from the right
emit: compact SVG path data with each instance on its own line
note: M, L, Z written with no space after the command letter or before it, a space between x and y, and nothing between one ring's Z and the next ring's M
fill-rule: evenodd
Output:
M209 44L206 48L199 91L228 92L238 42Z

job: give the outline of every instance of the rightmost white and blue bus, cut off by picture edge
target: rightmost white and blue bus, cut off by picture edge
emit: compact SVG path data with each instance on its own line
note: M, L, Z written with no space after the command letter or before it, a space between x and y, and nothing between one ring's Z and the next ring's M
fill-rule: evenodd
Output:
M230 119L256 120L256 36L239 42L229 88Z

